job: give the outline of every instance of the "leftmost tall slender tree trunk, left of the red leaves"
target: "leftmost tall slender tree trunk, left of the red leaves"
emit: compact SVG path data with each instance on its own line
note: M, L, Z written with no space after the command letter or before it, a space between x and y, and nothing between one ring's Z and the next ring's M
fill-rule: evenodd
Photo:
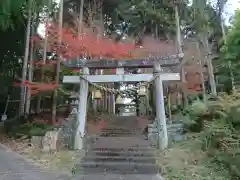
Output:
M26 81L27 78L27 66L28 66L28 56L29 56L29 45L30 45L30 35L31 35L31 21L32 21L32 0L29 0L28 9L28 22L26 31L26 44L25 44L25 54L22 68L22 83ZM24 115L25 113L25 102L26 102L26 87L21 86L20 94L20 104L19 104L19 115Z

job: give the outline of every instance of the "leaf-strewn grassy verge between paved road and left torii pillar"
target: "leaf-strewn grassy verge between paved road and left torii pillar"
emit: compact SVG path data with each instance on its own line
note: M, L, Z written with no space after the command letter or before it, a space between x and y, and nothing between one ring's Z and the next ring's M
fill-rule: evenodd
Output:
M33 160L40 167L47 170L71 174L74 164L81 161L84 151L61 150L56 152L43 152L34 148L29 140L10 139L0 130L0 143L9 147L13 151Z

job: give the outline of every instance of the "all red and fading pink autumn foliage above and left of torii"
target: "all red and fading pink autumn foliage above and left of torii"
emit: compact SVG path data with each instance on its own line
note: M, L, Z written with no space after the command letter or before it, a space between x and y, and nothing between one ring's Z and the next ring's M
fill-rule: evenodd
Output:
M47 51L57 54L56 60L47 59L35 61L36 67L55 66L60 61L76 60L79 57L86 57L89 60L99 59L136 59L153 56L165 56L175 54L175 46L172 42L163 42L155 40L153 37L145 37L142 39L142 46L137 47L134 40L125 42L115 42L112 38L100 37L99 34L90 28L83 26L83 32L78 35L77 31L72 27L64 27L61 30L58 24L51 24L46 27L48 34ZM61 42L59 42L61 36ZM44 39L39 36L32 37L34 45L40 49L44 48ZM39 92L51 91L56 89L58 85L54 83L18 83L19 86L27 86L31 89L32 95Z

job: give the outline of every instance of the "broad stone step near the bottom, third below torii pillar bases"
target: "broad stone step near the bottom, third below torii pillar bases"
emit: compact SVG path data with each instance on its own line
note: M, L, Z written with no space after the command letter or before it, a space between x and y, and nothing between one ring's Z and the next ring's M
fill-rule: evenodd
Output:
M114 173L114 174L156 174L159 168L156 164L141 164L129 162L83 162L75 165L75 171L84 174Z

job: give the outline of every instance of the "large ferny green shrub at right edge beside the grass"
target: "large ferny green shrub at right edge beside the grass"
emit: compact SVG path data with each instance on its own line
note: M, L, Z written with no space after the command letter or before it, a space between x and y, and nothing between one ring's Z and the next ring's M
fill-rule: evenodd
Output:
M183 122L188 130L201 132L203 149L229 169L231 179L240 179L240 93L194 101Z

